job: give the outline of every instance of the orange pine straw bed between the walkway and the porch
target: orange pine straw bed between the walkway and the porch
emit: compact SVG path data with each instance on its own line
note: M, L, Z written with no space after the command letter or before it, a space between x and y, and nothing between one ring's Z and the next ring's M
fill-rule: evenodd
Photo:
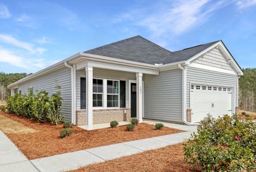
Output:
M73 126L73 134L61 139L59 131L63 127L62 124L53 126L50 123L38 123L35 120L7 114L6 112L0 112L0 115L36 130L36 132L25 134L5 133L28 159L43 158L86 148L183 132L182 130L168 127L164 127L162 130L155 130L155 126L146 123L139 124L134 131L127 131L126 126L92 131Z

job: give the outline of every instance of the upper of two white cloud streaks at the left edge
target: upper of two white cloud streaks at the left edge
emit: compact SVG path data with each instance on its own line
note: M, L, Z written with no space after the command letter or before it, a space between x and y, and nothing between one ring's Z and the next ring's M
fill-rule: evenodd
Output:
M29 52L31 52L32 54L42 54L46 50L44 48L36 47L33 44L19 41L16 38L14 38L10 35L7 35L7 34L0 34L0 41L5 42L7 44L17 46L22 49L26 49Z

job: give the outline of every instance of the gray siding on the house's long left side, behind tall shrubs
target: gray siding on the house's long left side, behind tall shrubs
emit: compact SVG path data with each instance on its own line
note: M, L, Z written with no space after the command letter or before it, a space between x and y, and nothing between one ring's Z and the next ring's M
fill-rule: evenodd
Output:
M62 113L64 120L71 120L71 70L70 68L60 68L43 76L36 77L25 83L18 85L22 93L28 93L28 88L33 87L33 92L47 91L49 96L57 91L56 86L61 87Z

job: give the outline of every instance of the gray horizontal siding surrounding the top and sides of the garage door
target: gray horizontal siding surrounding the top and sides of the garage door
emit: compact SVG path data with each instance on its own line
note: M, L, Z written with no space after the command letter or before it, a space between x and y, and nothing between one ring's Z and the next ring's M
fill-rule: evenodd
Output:
M231 85L235 87L235 104L238 105L238 76L206 69L187 67L187 108L190 108L190 83Z

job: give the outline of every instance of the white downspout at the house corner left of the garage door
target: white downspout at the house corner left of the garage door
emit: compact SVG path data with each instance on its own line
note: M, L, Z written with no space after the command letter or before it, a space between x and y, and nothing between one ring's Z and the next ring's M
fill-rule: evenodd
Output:
M178 68L182 70L182 122L188 126L197 126L197 123L189 123L187 122L187 76L186 76L186 67L182 67L182 65L178 64Z

